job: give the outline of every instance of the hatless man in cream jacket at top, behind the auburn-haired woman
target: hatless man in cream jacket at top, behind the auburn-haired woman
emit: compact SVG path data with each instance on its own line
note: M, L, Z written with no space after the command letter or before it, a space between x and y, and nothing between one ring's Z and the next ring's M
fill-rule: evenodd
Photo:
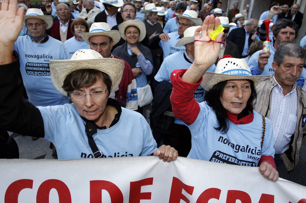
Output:
M95 6L94 0L84 0L84 8L80 12L79 16L84 18L90 27L93 22L95 22L95 17L100 12L100 9Z

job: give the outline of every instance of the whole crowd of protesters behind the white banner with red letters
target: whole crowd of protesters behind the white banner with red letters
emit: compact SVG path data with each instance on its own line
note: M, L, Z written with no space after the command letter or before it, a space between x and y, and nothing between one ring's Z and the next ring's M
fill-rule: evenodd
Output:
M259 166L276 181L306 133L303 14L273 2L255 19L249 8L2 0L2 158L18 158L9 130L50 141L58 159L183 156Z

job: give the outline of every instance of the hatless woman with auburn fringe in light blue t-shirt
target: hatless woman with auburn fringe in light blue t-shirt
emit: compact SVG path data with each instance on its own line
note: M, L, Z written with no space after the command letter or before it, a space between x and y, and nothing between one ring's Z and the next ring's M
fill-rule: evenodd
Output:
M89 32L86 20L83 18L76 18L71 23L70 29L74 36L64 42L69 56L71 57L73 53L79 49L90 49L90 45L88 45L80 35L80 33Z

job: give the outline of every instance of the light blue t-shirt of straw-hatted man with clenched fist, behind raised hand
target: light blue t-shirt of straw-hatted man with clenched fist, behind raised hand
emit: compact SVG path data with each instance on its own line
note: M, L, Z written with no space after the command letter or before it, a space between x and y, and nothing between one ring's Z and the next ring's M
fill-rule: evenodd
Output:
M186 49L185 46L176 47L176 43L180 40L180 35L177 32L168 33L170 39L168 41L163 42L159 41L159 46L162 48L162 52L164 54L164 59L176 52L184 51Z

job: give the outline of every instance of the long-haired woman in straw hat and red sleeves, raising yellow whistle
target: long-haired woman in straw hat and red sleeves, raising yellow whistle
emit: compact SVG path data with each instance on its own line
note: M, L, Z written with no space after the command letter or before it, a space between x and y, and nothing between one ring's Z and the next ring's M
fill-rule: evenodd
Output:
M223 33L215 41L209 37L219 24L213 15L205 18L194 34L193 64L170 76L174 115L184 121L192 136L188 157L241 166L260 164L260 173L276 181L271 121L252 106L255 86L267 76L252 76L246 61L234 58L221 59L215 73L206 72L220 51ZM201 103L193 97L199 85L207 90Z

